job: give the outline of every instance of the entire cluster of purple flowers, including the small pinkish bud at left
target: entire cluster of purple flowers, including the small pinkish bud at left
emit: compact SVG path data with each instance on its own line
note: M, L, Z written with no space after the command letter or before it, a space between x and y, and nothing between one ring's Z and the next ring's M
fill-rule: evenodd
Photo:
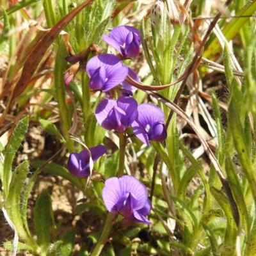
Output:
M125 66L122 60L135 58L140 53L140 31L130 26L119 26L102 38L119 53L117 56L99 54L86 63L85 69L90 77L90 88L106 92L107 97L111 98L104 99L98 104L95 110L97 121L104 129L120 132L124 134L123 136L131 125L134 135L148 146L152 140L165 140L167 132L163 111L153 104L138 105L131 97L134 87L125 82L127 75L139 81L137 74ZM79 54L77 56L79 57ZM75 57L75 60L73 58L72 61L77 61L78 57ZM65 82L70 83L76 72L77 67L76 70L68 70L65 74ZM116 86L122 89L122 96L113 99ZM89 150L93 162L106 153L106 147L102 145ZM72 175L85 178L90 176L89 161L88 150L83 150L79 154L72 153L68 159L67 168ZM123 226L137 222L151 223L145 216L152 209L152 204L148 199L147 189L140 180L128 175L120 178L112 177L105 181L102 198L109 212L124 216Z

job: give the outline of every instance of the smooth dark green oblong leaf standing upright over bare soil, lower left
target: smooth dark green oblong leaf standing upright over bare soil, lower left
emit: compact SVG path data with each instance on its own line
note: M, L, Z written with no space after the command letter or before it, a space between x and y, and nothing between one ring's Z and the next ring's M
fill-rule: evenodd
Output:
M50 245L51 207L51 198L43 189L36 199L34 216L36 236L43 252L47 252Z

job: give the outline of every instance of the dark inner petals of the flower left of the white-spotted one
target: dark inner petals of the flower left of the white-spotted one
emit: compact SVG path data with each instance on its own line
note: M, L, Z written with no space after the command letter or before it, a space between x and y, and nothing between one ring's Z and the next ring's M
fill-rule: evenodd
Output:
M122 109L113 107L101 126L108 130L124 132L127 129L127 116Z

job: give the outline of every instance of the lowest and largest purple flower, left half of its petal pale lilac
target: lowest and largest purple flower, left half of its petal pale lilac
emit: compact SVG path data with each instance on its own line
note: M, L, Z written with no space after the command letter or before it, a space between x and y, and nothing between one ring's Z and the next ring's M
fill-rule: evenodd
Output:
M109 212L118 212L134 222L151 223L145 216L152 205L140 180L128 175L110 178L102 189L102 198Z

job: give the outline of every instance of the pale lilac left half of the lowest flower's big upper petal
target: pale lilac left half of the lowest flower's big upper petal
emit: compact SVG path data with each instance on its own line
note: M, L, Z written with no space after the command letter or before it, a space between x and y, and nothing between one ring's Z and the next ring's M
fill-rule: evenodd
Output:
M102 189L102 198L109 212L117 212L116 204L121 196L122 194L118 178L113 177L106 180L105 186Z

